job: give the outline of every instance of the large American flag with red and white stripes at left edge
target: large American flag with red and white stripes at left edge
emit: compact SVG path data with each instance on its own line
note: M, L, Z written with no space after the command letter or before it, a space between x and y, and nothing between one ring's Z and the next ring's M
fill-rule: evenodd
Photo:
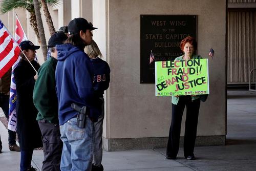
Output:
M12 67L20 49L0 20L0 78Z

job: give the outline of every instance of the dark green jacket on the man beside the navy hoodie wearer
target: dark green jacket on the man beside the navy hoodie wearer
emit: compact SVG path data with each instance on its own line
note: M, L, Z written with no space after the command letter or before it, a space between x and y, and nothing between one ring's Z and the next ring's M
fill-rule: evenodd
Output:
M55 69L57 59L50 57L38 70L33 100L38 114L36 120L45 119L58 124L58 99L56 94Z

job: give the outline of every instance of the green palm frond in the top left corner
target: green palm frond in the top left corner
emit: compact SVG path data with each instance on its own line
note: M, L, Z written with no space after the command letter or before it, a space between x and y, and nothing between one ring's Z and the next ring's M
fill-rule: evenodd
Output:
M26 8L27 4L26 0L4 0L1 2L0 13L4 14L15 8Z

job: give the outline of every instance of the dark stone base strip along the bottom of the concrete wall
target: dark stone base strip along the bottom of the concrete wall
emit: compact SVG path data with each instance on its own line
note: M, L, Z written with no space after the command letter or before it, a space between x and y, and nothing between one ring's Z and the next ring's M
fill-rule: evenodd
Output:
M180 138L180 147L183 146L184 137ZM225 145L226 136L198 136L196 146ZM107 139L103 137L103 149L108 152L127 151L135 149L165 148L168 137L153 138L121 138Z

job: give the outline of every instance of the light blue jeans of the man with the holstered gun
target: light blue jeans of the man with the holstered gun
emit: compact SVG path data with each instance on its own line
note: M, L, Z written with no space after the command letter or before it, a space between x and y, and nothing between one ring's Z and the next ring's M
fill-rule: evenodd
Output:
M88 115L84 128L76 125L76 118L60 125L60 139L63 142L60 170L90 171L92 169L93 134L93 123Z

